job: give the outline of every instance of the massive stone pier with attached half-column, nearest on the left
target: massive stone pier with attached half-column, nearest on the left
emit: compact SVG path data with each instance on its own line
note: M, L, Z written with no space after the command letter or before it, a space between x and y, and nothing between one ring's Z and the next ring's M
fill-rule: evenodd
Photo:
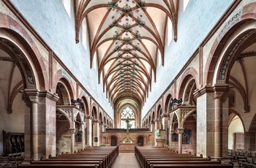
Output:
M56 155L56 102L59 97L48 91L25 89L25 159Z

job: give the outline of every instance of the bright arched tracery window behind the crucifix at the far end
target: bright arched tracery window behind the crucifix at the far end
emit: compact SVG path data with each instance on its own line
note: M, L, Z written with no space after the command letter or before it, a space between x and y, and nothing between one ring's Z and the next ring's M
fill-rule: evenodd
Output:
M126 107L121 112L121 129L127 129L127 122L129 121L129 128L135 128L135 113L130 107Z

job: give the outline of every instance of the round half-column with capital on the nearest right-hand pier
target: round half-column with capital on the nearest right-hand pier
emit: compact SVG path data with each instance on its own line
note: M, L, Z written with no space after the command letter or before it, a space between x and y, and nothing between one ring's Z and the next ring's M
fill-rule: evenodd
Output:
M225 135L225 132L227 133L227 130L225 130L227 128L225 127L228 127L228 125L226 124L227 121L225 123L225 118L227 120L228 111L227 111L227 116L225 116L225 112L222 111L222 108L223 108L222 104L225 102L225 99L227 98L226 96L227 91L228 91L228 85L214 85L214 104L215 104L214 157L215 158L222 157L222 150L225 150L225 147L223 146L225 142L222 142L223 140L222 136ZM228 107L227 107L227 110L228 110Z

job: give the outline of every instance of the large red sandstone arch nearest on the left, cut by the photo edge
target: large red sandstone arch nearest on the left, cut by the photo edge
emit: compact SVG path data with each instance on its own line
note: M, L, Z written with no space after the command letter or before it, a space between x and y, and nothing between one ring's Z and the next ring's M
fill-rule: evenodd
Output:
M29 75L26 72L20 71L23 76L23 81L26 81L26 83L24 83L24 88L38 88L39 90L48 90L50 88L48 84L48 71L46 70L44 61L42 60L42 56L39 53L37 45L35 45L32 37L29 35L26 29L23 26L21 26L20 23L18 23L18 21L15 20L14 18L11 18L10 16L5 15L4 13L1 12L0 18L0 30L2 29L6 31L6 35L11 34L12 37L10 36L10 39L8 40L14 40L16 44L15 46L18 48L23 47L23 49L28 52L29 57L32 60L32 62L29 62L28 59L25 57L27 61L25 69L31 72L31 77L33 77L33 79L36 80L35 83L38 85L28 85L29 80L27 77L29 77ZM10 27L13 27L13 29L10 29ZM20 46L17 46L18 42L20 42ZM32 64L34 64L34 70L31 66ZM34 75L34 73L37 73L37 79L35 78L36 76Z

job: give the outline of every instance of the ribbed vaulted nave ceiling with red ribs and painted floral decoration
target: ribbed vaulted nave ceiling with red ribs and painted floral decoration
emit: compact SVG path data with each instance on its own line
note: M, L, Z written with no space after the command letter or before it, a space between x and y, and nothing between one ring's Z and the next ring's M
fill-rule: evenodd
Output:
M177 40L178 0L76 0L75 32L86 20L91 67L97 57L99 83L115 107L146 102L164 66L165 30L170 19ZM159 59L160 57L161 59ZM153 78L153 79L152 79Z

